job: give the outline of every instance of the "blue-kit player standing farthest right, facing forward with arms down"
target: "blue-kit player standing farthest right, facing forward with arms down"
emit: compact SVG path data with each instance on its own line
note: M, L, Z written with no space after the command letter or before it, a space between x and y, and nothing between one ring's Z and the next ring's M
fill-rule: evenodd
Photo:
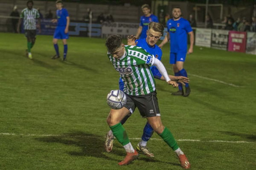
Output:
M194 33L189 24L188 20L181 17L180 7L174 7L172 9L173 18L168 20L167 28L168 32L163 42L159 45L160 48L163 47L166 42L170 40L170 64L173 65L173 71L175 76L187 77L186 70L183 68L183 64L186 59L186 54L191 54L193 52L194 45ZM187 51L187 34L190 38L190 47ZM179 84L179 91L172 93L173 95L183 95L189 96L190 87L189 84L185 85L185 92L183 91L182 84Z

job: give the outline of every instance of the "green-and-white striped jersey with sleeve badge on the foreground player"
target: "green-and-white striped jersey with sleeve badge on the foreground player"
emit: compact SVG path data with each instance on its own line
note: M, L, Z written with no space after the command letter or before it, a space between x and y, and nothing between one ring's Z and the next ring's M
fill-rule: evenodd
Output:
M133 45L125 45L125 51L125 57L120 59L115 59L108 52L110 61L125 84L124 92L129 95L140 96L155 91L155 80L150 70L150 66L154 64L154 55Z

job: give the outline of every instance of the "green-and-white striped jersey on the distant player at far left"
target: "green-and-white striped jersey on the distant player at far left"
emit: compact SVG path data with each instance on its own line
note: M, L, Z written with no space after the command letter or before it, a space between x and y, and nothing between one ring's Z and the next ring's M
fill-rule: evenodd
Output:
M35 30L36 22L35 19L39 18L39 12L37 9L25 8L21 11L20 18L23 18L23 28L27 30Z

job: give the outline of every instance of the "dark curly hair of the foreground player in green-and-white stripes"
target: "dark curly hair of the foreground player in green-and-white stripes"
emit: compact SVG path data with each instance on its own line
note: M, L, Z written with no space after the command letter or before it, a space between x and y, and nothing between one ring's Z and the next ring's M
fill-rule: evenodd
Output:
M122 38L119 35L110 35L105 45L108 48L108 52L113 53L122 45Z

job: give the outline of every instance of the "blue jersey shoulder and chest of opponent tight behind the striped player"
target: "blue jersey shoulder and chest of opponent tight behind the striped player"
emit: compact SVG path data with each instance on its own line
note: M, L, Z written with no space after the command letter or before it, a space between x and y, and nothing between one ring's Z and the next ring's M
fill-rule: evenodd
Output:
M154 55L154 57L156 57L157 59L161 60L163 53L162 53L161 48L159 48L157 45L154 45L153 47L148 45L148 43L146 42L145 38L144 39L136 40L136 42L138 42L137 46L143 48L149 54ZM156 66L152 66L152 67L156 68Z

